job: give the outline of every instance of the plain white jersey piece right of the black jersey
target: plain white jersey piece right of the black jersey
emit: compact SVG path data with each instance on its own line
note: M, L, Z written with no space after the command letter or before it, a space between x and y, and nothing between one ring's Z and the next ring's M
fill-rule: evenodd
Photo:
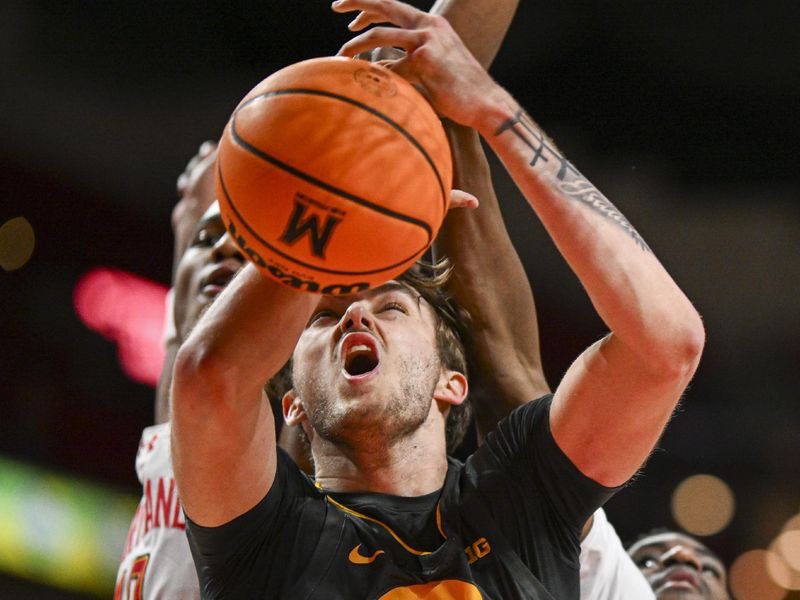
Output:
M581 542L581 600L655 600L602 508Z

